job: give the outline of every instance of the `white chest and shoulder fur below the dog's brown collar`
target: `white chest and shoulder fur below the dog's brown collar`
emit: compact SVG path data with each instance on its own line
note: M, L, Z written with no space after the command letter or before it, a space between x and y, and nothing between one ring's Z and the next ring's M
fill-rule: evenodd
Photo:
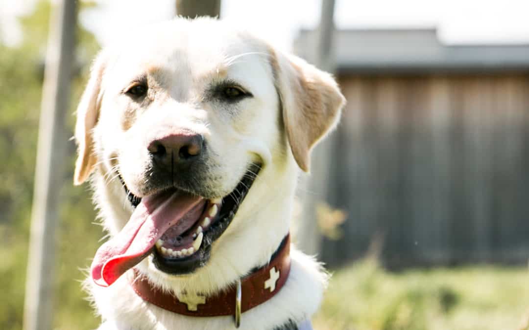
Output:
M288 319L299 323L319 307L327 281L325 272L311 257L296 250L290 253L285 286L266 303L243 313L240 329L273 329ZM107 288L90 282L90 293L104 321L101 329L233 329L231 316L190 317L145 303L130 287L131 273Z

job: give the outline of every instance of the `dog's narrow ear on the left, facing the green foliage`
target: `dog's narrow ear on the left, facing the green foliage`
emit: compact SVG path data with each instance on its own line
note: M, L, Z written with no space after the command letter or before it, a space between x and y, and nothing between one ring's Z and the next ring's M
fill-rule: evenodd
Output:
M93 128L99 117L101 105L101 80L106 67L105 54L99 53L90 70L90 79L77 107L75 141L77 143L77 161L75 162L74 184L80 185L94 171L97 158L94 154Z

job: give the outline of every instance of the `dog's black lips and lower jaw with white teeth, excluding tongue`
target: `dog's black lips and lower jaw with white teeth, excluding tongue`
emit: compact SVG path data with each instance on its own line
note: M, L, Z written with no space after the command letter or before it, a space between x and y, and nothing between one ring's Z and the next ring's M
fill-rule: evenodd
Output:
M189 224L186 225L183 232L175 230L177 225L167 229L151 249L152 264L168 275L187 275L205 266L211 257L213 242L221 237L230 226L260 168L260 165L250 165L239 184L222 199L203 199L202 202L198 203L194 211L190 211L190 213L195 213L195 216L196 214L199 215L195 220L186 220ZM121 182L131 205L136 208L141 202L141 198L133 195L122 179ZM178 192L178 190L175 187L165 188L168 194ZM213 208L216 212L212 216ZM199 243L198 240L200 240ZM179 244L181 245L177 249ZM186 248L182 249L183 246ZM191 249L193 252L189 253Z

